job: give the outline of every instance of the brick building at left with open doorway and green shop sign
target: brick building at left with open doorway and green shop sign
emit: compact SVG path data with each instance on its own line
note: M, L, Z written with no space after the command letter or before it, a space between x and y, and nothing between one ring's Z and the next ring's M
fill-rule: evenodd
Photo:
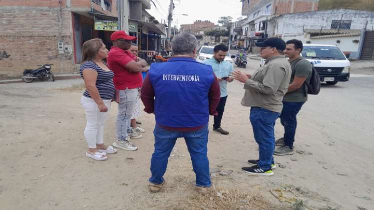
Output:
M146 21L142 11L150 6L150 0L129 1L129 16L136 22L129 29L135 28L142 48L155 49L162 31ZM0 0L0 51L7 54L0 59L0 79L45 63L54 64L55 73L77 72L86 40L101 38L110 48L117 16L117 0Z

